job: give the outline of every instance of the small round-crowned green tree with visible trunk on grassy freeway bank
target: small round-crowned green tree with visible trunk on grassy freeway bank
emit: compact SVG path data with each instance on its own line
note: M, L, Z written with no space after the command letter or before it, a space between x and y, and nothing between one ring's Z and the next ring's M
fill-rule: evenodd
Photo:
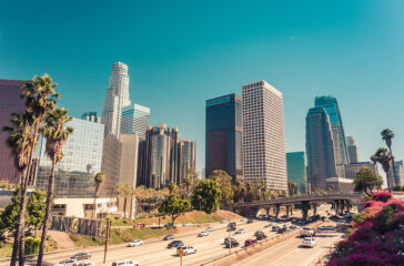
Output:
M186 200L182 200L176 194L170 194L168 198L160 204L159 212L171 215L171 223L174 226L175 219L191 208L191 204Z

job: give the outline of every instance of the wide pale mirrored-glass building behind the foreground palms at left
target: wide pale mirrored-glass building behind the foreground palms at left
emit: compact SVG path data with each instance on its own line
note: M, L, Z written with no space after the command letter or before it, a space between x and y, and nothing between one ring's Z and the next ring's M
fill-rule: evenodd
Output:
M80 119L67 123L74 132L63 147L63 158L54 174L54 194L60 197L93 197L94 175L101 171L104 125ZM41 143L37 187L48 191L52 163L46 154L46 140ZM108 180L110 182L110 180ZM117 181L118 182L118 181ZM114 182L112 182L114 183ZM108 191L108 187L104 187Z

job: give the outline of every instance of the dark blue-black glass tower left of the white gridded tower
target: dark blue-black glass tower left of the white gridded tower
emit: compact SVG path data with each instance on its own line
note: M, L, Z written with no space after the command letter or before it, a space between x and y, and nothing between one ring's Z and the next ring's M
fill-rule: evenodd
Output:
M242 178L242 100L233 93L206 100L206 176L223 170Z

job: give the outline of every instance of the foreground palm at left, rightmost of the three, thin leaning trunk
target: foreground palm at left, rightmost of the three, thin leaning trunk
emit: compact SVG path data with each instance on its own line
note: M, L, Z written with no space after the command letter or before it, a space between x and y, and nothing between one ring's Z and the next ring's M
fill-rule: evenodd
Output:
M54 168L60 160L62 160L62 149L69 140L69 135L73 132L72 127L65 126L64 124L71 120L72 117L68 115L68 110L58 108L47 114L46 125L41 127L42 134L47 139L46 153L48 155L48 158L52 162L52 168L51 175L49 176L47 211L43 217L41 245L39 248L37 266L42 265L44 242L47 239L47 233L49 227L48 221L52 208Z

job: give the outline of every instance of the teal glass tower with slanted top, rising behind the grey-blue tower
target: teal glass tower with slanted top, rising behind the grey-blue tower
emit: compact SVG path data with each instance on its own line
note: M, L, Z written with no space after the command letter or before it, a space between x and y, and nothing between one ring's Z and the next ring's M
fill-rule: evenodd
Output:
M347 153L345 132L339 103L336 99L332 96L317 96L314 100L314 104L316 108L324 108L330 117L330 124L334 140L333 142L337 176L344 177L345 165L350 163L350 157Z

